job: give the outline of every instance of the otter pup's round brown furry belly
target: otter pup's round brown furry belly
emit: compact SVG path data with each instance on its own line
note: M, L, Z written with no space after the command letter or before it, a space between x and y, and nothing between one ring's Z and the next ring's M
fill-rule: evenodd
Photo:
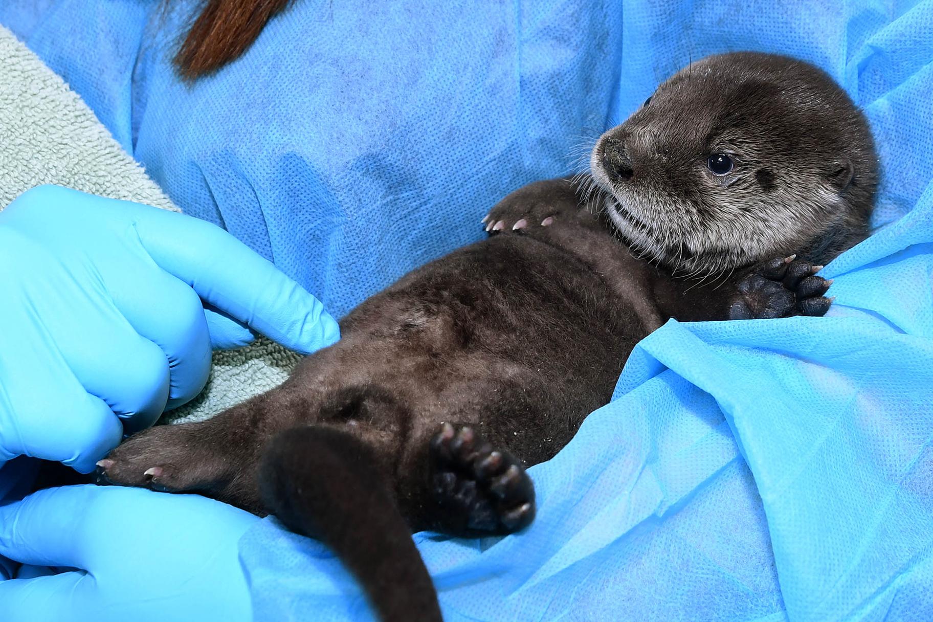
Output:
M578 257L494 238L415 270L342 325L336 382L391 388L413 438L473 423L534 463L608 402L646 330Z

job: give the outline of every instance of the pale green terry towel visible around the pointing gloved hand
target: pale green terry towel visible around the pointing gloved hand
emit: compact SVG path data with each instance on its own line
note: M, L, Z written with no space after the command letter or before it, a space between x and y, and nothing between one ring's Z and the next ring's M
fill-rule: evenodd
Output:
M178 211L74 90L0 26L0 209L58 184ZM268 339L215 352L207 387L165 421L195 421L285 380L299 355Z

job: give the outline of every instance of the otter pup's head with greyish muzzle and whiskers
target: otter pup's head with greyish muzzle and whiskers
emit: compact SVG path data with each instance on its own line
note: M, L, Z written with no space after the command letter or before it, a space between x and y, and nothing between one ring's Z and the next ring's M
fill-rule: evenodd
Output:
M658 87L591 157L636 252L716 273L865 237L877 159L865 117L825 73L758 53L710 56Z

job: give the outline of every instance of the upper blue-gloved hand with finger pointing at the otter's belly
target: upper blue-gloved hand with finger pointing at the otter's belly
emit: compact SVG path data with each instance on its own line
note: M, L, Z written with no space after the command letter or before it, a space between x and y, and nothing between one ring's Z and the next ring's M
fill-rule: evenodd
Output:
M63 187L0 213L0 292L0 465L24 454L90 472L124 430L202 390L212 346L253 339L236 321L299 352L340 337L223 229Z

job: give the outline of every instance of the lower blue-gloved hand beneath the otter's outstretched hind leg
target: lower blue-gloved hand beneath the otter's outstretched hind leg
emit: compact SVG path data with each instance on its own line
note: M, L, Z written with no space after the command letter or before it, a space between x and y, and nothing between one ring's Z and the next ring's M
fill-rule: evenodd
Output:
M35 577L0 581L0 620L251 620L237 543L258 520L194 494L35 492L0 507L0 556L32 564L20 576Z

